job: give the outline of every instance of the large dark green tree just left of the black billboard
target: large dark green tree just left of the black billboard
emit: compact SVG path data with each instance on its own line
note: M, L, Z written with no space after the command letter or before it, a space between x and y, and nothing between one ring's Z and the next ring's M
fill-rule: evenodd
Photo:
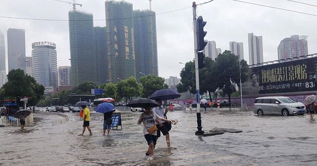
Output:
M242 83L247 80L248 64L245 60L241 60L241 81ZM230 65L228 65L230 64ZM215 58L214 72L217 75L215 80L218 87L222 88L223 92L228 95L229 103L232 93L232 83L240 83L240 69L239 57L225 50ZM221 77L221 79L219 79ZM241 86L239 84L239 86Z

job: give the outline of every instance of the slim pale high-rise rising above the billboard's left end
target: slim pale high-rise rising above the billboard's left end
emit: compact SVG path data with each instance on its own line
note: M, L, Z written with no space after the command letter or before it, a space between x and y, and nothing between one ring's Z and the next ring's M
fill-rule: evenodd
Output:
M249 65L263 63L263 43L262 36L248 34L249 42Z

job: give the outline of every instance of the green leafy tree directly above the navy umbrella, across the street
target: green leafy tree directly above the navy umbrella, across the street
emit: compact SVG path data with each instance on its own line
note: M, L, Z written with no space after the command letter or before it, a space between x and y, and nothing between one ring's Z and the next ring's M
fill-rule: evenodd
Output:
M141 96L148 98L152 93L159 89L167 89L168 85L164 83L164 79L158 76L147 75L140 78L140 82L143 86Z

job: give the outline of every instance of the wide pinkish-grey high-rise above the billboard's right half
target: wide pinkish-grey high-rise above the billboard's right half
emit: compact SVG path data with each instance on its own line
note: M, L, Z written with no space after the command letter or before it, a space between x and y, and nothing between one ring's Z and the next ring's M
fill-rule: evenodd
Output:
M278 59L299 57L308 54L307 36L293 35L283 39L277 47Z

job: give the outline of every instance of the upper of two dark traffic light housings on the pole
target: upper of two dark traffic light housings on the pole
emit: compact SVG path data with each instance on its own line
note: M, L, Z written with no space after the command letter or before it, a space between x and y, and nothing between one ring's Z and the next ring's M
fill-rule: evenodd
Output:
M203 21L203 17L199 16L196 21L196 34L197 34L197 51L201 51L207 45L205 42L204 37L206 36L207 32L204 31L204 26L206 25L206 21Z

